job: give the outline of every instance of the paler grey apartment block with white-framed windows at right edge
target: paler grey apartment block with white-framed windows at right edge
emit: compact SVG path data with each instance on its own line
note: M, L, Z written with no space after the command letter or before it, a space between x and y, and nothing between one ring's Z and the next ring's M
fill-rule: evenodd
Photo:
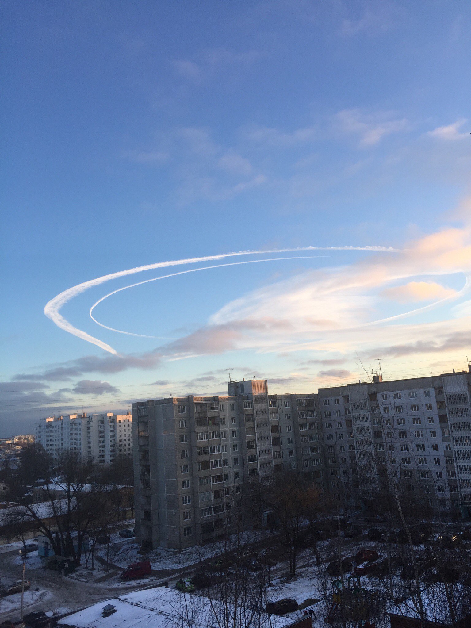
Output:
M365 507L394 478L410 504L469 517L470 386L470 372L453 371L319 389L326 488Z

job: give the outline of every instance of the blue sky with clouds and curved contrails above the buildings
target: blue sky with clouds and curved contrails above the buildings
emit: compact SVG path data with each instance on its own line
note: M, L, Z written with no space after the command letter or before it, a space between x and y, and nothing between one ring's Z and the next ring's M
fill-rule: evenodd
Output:
M0 436L467 368L467 0L0 13Z

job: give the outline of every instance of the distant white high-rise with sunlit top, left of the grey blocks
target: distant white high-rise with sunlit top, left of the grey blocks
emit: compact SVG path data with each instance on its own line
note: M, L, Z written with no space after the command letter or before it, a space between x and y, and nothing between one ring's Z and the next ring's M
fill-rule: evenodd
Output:
M133 452L133 417L127 414L69 414L40 419L35 439L57 460L64 451L82 460L109 464L116 455Z

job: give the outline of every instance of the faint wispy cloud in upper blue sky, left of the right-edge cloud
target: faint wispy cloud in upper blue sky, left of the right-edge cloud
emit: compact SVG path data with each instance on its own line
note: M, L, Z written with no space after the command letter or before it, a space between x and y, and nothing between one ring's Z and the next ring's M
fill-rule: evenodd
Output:
M391 112L367 114L360 109L344 109L335 118L342 133L359 136L363 148L374 146L382 138L407 131L410 127L406 118L396 118Z

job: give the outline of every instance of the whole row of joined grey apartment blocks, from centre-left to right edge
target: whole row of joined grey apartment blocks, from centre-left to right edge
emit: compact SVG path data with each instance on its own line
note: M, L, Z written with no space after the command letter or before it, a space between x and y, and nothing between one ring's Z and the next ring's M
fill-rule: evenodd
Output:
M136 536L181 549L219 536L265 474L291 470L352 509L391 479L409 503L471 516L471 367L435 377L268 394L229 382L227 397L133 404ZM232 521L232 523L231 523ZM254 525L264 523L256 512Z

